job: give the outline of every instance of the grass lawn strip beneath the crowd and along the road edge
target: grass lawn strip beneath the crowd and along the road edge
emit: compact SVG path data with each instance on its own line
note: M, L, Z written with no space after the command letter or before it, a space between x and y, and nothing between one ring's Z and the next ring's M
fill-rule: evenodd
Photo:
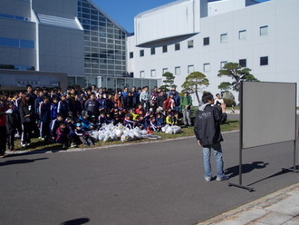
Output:
M223 123L221 125L221 130L222 132L227 132L227 131L234 131L239 129L239 122L237 120L227 120L227 122ZM159 140L167 140L167 139L176 139L178 137L188 137L188 136L193 136L193 127L188 127L188 128L182 128L181 132L177 134L168 134L164 132L155 132L154 134L157 134L161 136ZM138 142L155 142L157 140L149 140L149 139L141 139L141 140L135 140L132 142L127 142L127 143L138 143ZM102 146L107 146L107 145L115 145L115 144L121 144L123 142L121 141L116 141L116 142L96 142L95 146L90 146L90 147L84 147L83 145L80 145L79 148L94 148L94 147L102 147ZM32 143L28 147L22 147L20 145L20 140L15 141L15 149L16 151L60 151L61 144L58 143L47 143L45 141L42 141L38 138L32 139Z

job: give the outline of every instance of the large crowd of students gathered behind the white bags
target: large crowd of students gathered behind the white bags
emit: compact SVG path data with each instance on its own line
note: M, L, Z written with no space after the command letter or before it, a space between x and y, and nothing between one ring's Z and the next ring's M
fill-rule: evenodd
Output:
M176 89L165 93L154 87L142 89L124 87L117 93L106 88L68 87L33 88L25 92L0 93L0 155L14 151L14 139L19 137L23 147L38 136L46 142L58 142L63 149L78 143L93 145L90 132L105 123L121 122L129 128L136 126L149 132L159 132L165 124L190 126L192 105L188 93L179 96ZM180 118L183 115L183 120Z

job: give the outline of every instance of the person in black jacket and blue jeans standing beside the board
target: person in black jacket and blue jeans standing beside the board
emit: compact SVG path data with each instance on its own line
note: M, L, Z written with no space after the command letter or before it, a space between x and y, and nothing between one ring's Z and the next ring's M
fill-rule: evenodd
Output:
M210 163L211 152L213 152L217 165L217 181L227 180L228 177L223 171L223 155L220 142L223 137L220 131L220 123L227 120L226 105L214 105L212 93L204 93L202 96L204 103L199 107L196 115L194 132L198 140L198 145L203 147L203 159L206 181L212 179L212 169Z

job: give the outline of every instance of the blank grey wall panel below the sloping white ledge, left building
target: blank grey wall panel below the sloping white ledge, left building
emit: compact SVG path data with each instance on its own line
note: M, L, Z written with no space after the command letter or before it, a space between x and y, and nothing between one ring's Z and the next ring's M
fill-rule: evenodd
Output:
M83 31L51 25L39 25L40 70L84 73Z

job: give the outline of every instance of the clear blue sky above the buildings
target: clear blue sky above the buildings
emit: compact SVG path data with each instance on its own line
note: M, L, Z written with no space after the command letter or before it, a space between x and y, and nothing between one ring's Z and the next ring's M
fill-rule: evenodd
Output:
M109 15L129 33L134 32L135 15L175 1L176 0L92 0L104 13ZM265 2L268 0L257 1Z

